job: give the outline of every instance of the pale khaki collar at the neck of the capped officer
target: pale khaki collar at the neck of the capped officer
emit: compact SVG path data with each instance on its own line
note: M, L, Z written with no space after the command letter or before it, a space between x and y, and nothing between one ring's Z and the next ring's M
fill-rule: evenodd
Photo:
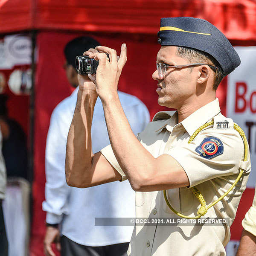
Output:
M199 127L204 125L207 121L212 119L221 112L218 98L209 102L207 105L199 108L197 111L193 112L190 116L185 118L181 124L188 132L189 136L197 130Z

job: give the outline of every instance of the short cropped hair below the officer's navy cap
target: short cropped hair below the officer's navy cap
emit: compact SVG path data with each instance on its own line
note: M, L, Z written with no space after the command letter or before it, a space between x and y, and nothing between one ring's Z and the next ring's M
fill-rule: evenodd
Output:
M198 49L183 46L177 47L177 55L187 59L190 62L203 62L217 67L215 72L215 81L213 84L213 89L217 90L218 85L224 78L225 74L221 68L221 65L218 63L218 61L216 61L215 58L212 57L212 55L209 55L207 52L203 52Z

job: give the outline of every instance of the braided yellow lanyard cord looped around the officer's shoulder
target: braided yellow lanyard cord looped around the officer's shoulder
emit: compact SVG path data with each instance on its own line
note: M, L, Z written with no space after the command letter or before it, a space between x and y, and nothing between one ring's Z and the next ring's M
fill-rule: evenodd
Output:
M188 141L188 144L192 143L192 141L195 139L195 137L198 135L198 133L200 131L202 131L204 128L208 127L208 126L211 126L213 125L213 121L211 122L207 122L206 124L202 125L200 128L198 128L194 134L189 138L189 141ZM240 136L242 137L243 139L243 142L244 142L244 161L247 161L247 156L248 156L248 142L247 142L247 139L245 137L245 134L244 134L244 131L239 127L239 125L237 125L236 123L234 123L234 129L236 131L239 132ZM196 187L192 187L191 190L193 192L193 194L196 196L196 198L198 198L200 204L201 204L201 207L198 209L198 212L197 212L197 216L195 217L189 217L189 216L186 216L186 215L183 215L179 212L177 212L172 206L171 204L169 203L168 201L168 198L166 196L166 190L163 190L163 196L164 196L164 199L166 201L166 204L168 205L168 207L175 213L177 214L178 216L180 216L181 218L187 218L187 219L197 219L197 218L201 218L201 216L204 216L206 213L207 213L207 210L214 206L215 204L217 204L219 201L221 201L221 199L223 199L232 189L234 186L236 186L236 183L238 183L238 181L240 180L243 172L245 170L239 168L239 175L238 177L236 178L235 182L233 183L233 185L230 187L230 189L228 189L228 191L226 193L224 193L224 195L222 195L220 198L218 198L216 201L214 201L212 204L210 204L209 206L206 206L206 202L204 200L204 197L203 195L201 194L201 192L196 188Z

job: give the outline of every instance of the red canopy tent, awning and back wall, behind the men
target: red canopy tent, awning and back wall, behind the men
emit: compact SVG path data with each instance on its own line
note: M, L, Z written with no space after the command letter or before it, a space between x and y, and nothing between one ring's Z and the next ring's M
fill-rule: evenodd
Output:
M30 31L36 35L38 48L33 88L35 102L33 97L31 99L32 108L35 103L35 118L32 116L35 130L30 130L30 134L34 134L31 255L43 255L45 213L41 209L41 203L44 200L44 151L49 118L53 108L68 96L71 90L64 78L64 70L60 68L64 62L64 45L85 32L87 35L93 35L102 45L107 44L116 49L119 49L122 42L126 42L128 62L123 70L119 88L138 96L153 116L163 109L157 105L155 83L151 79L159 48L156 32L161 17L178 16L208 20L217 26L233 45L256 45L254 0L0 0L0 34ZM138 63L142 61L146 61L148 67L140 67ZM224 114L225 94L224 80L218 89ZM23 112L24 117L27 113L28 110ZM12 116L15 116L15 113ZM252 191L246 190L244 195L252 201ZM241 218L248 208L249 204L242 200L235 221L236 229L231 232L232 239L240 239Z

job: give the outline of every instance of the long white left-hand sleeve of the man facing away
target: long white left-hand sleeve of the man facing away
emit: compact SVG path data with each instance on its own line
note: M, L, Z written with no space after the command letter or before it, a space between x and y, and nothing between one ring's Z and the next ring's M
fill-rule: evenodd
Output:
M69 125L57 111L53 111L47 135L45 152L45 201L43 210L47 212L46 221L57 224L62 215L68 214L68 195L71 187L65 177L65 156Z

